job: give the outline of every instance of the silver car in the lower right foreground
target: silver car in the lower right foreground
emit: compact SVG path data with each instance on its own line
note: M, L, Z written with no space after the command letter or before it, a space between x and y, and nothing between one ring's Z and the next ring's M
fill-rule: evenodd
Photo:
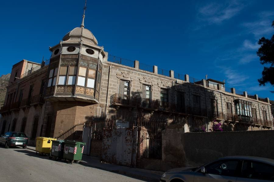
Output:
M176 168L160 182L266 182L274 181L274 160L251 156L222 157L201 167Z

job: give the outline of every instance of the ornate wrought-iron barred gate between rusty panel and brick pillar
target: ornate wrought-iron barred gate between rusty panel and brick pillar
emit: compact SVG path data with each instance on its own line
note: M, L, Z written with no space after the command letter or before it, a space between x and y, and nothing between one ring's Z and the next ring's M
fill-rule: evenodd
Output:
M162 130L165 129L166 120L146 119L138 116L138 157L162 158Z

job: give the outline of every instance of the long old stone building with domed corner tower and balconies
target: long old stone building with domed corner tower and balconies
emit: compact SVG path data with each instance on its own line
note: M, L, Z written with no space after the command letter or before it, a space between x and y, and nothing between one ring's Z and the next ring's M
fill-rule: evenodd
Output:
M58 137L93 118L111 118L117 128L144 118L181 125L184 132L209 131L213 121L226 131L273 129L269 98L111 56L84 27L84 18L50 51L41 64L13 65L1 134L25 132L34 144L37 136Z

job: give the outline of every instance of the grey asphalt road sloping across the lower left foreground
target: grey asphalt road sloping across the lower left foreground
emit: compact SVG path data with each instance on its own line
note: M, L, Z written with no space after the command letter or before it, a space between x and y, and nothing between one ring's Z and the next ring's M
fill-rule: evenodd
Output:
M87 167L83 164L68 164L39 156L35 151L21 147L5 149L0 146L0 182L14 181L141 181L121 174Z

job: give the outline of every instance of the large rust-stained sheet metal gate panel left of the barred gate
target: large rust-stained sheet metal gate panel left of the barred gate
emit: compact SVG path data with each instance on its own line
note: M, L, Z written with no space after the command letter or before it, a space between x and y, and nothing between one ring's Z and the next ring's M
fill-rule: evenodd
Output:
M132 128L104 129L101 160L125 166L136 166L137 130ZM133 155L132 155L133 154Z

